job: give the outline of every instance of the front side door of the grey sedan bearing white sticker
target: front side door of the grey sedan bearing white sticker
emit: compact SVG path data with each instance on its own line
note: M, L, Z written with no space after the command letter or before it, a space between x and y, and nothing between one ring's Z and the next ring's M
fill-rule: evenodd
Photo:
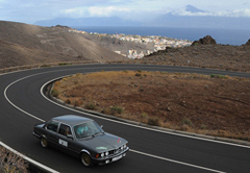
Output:
M57 138L60 150L70 155L77 155L76 148L74 147L75 140L69 125L60 124Z

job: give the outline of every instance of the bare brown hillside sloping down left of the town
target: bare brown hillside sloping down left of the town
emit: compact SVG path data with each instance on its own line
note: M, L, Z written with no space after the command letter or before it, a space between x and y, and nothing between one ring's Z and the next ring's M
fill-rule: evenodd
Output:
M78 60L123 60L68 27L0 21L0 68Z

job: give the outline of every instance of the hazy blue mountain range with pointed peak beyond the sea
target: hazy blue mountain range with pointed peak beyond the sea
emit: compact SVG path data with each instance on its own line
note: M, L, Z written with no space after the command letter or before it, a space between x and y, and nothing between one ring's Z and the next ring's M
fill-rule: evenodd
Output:
M184 12L182 14L181 12ZM186 13L185 13L186 12ZM57 18L37 21L39 26L163 26L163 27L192 27L192 28L250 28L249 17L223 17L209 15L209 11L198 9L192 5L173 10L154 19L144 21L125 20L119 17L89 17L89 18ZM211 13L212 14L212 13ZM148 14L145 14L147 16Z

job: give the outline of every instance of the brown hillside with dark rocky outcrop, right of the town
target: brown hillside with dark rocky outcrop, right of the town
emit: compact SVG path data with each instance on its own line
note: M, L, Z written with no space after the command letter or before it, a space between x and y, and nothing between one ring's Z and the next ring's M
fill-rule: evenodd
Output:
M137 60L137 63L250 72L249 53L249 42L241 46L221 45L216 44L213 38L206 36L199 41L194 41L193 46L167 47L163 51L154 52L142 60Z

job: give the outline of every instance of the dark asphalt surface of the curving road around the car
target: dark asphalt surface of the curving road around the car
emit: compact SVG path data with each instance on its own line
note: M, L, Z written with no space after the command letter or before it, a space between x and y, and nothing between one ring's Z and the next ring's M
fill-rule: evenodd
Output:
M188 72L250 78L249 73L155 65L65 66L0 75L0 141L59 172L249 172L250 147L176 136L81 114L49 102L40 93L41 87L52 79L102 70ZM65 114L94 119L104 125L106 132L127 139L131 150L118 162L85 168L77 158L53 148L43 149L32 135L33 126L41 122L35 117L46 121Z

